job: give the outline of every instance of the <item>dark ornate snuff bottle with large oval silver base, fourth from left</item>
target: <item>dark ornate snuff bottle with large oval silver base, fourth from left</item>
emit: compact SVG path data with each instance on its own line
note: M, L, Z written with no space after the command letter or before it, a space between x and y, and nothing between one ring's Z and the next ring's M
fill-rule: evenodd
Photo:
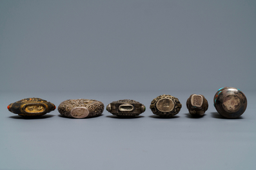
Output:
M153 114L162 117L172 117L179 113L181 106L179 99L171 95L163 94L152 100L150 109Z

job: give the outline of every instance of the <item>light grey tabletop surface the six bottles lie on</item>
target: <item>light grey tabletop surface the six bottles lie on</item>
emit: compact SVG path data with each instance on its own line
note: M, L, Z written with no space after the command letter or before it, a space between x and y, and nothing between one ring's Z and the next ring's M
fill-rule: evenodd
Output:
M204 92L206 114L193 118L186 99L197 92L166 92L179 98L181 112L170 119L153 115L149 105L162 92L2 93L0 169L255 169L255 92L244 92L248 108L239 119L225 119L213 106L215 92ZM56 106L66 99L97 99L105 105L135 99L146 112L120 119L104 109L88 119L62 117L54 110L24 119L6 108L37 97Z

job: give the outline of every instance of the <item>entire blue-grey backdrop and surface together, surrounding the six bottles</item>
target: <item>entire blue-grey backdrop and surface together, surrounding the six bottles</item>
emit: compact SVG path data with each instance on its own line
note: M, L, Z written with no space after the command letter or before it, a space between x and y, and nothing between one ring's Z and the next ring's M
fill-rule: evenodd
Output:
M255 170L255 54L256 1L0 0L0 169ZM239 119L213 107L224 86L246 94ZM209 102L199 119L185 105L193 93ZM181 101L176 117L150 111L161 94ZM146 112L23 119L6 109L30 97L135 99Z

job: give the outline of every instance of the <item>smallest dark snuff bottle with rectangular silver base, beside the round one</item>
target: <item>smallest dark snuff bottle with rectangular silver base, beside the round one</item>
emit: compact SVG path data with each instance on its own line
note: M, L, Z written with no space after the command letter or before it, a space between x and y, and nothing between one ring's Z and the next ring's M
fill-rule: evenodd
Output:
M186 101L188 112L193 116L202 116L208 109L208 101L201 94L192 94Z

